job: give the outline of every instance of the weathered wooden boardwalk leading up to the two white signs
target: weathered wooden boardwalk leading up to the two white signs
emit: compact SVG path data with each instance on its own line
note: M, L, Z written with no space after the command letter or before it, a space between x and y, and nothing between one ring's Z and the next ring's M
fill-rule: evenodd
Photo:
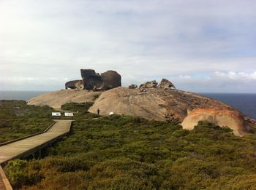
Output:
M6 145L0 146L0 164L7 163L10 159L27 157L39 151L58 138L61 138L70 130L72 120L56 120L56 124L47 132L24 138ZM0 176L0 190L3 188L3 178Z

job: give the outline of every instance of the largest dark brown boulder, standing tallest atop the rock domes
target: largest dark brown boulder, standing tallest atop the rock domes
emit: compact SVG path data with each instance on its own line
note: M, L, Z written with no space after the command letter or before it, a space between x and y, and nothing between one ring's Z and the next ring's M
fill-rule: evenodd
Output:
M97 74L93 69L81 69L80 72L85 90L99 91L121 87L121 75L116 71Z

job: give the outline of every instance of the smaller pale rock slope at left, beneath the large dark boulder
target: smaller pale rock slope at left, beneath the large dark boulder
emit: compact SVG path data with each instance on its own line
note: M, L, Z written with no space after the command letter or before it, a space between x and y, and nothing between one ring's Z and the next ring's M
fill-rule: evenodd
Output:
M61 108L61 105L69 102L84 103L93 102L95 96L101 92L88 92L86 90L59 90L48 92L28 100L29 105L50 106L52 108Z

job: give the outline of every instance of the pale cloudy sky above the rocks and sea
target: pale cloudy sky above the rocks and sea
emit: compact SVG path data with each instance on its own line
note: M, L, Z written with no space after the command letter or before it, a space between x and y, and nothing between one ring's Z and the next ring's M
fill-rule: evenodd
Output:
M255 0L0 0L0 90L60 90L80 68L122 85L256 93Z

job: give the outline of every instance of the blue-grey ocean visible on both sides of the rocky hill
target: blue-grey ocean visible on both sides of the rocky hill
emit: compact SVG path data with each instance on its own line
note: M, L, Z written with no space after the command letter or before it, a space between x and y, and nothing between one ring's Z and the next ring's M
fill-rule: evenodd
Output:
M0 100L29 100L47 91L0 91ZM199 93L240 110L246 116L256 119L256 94Z

